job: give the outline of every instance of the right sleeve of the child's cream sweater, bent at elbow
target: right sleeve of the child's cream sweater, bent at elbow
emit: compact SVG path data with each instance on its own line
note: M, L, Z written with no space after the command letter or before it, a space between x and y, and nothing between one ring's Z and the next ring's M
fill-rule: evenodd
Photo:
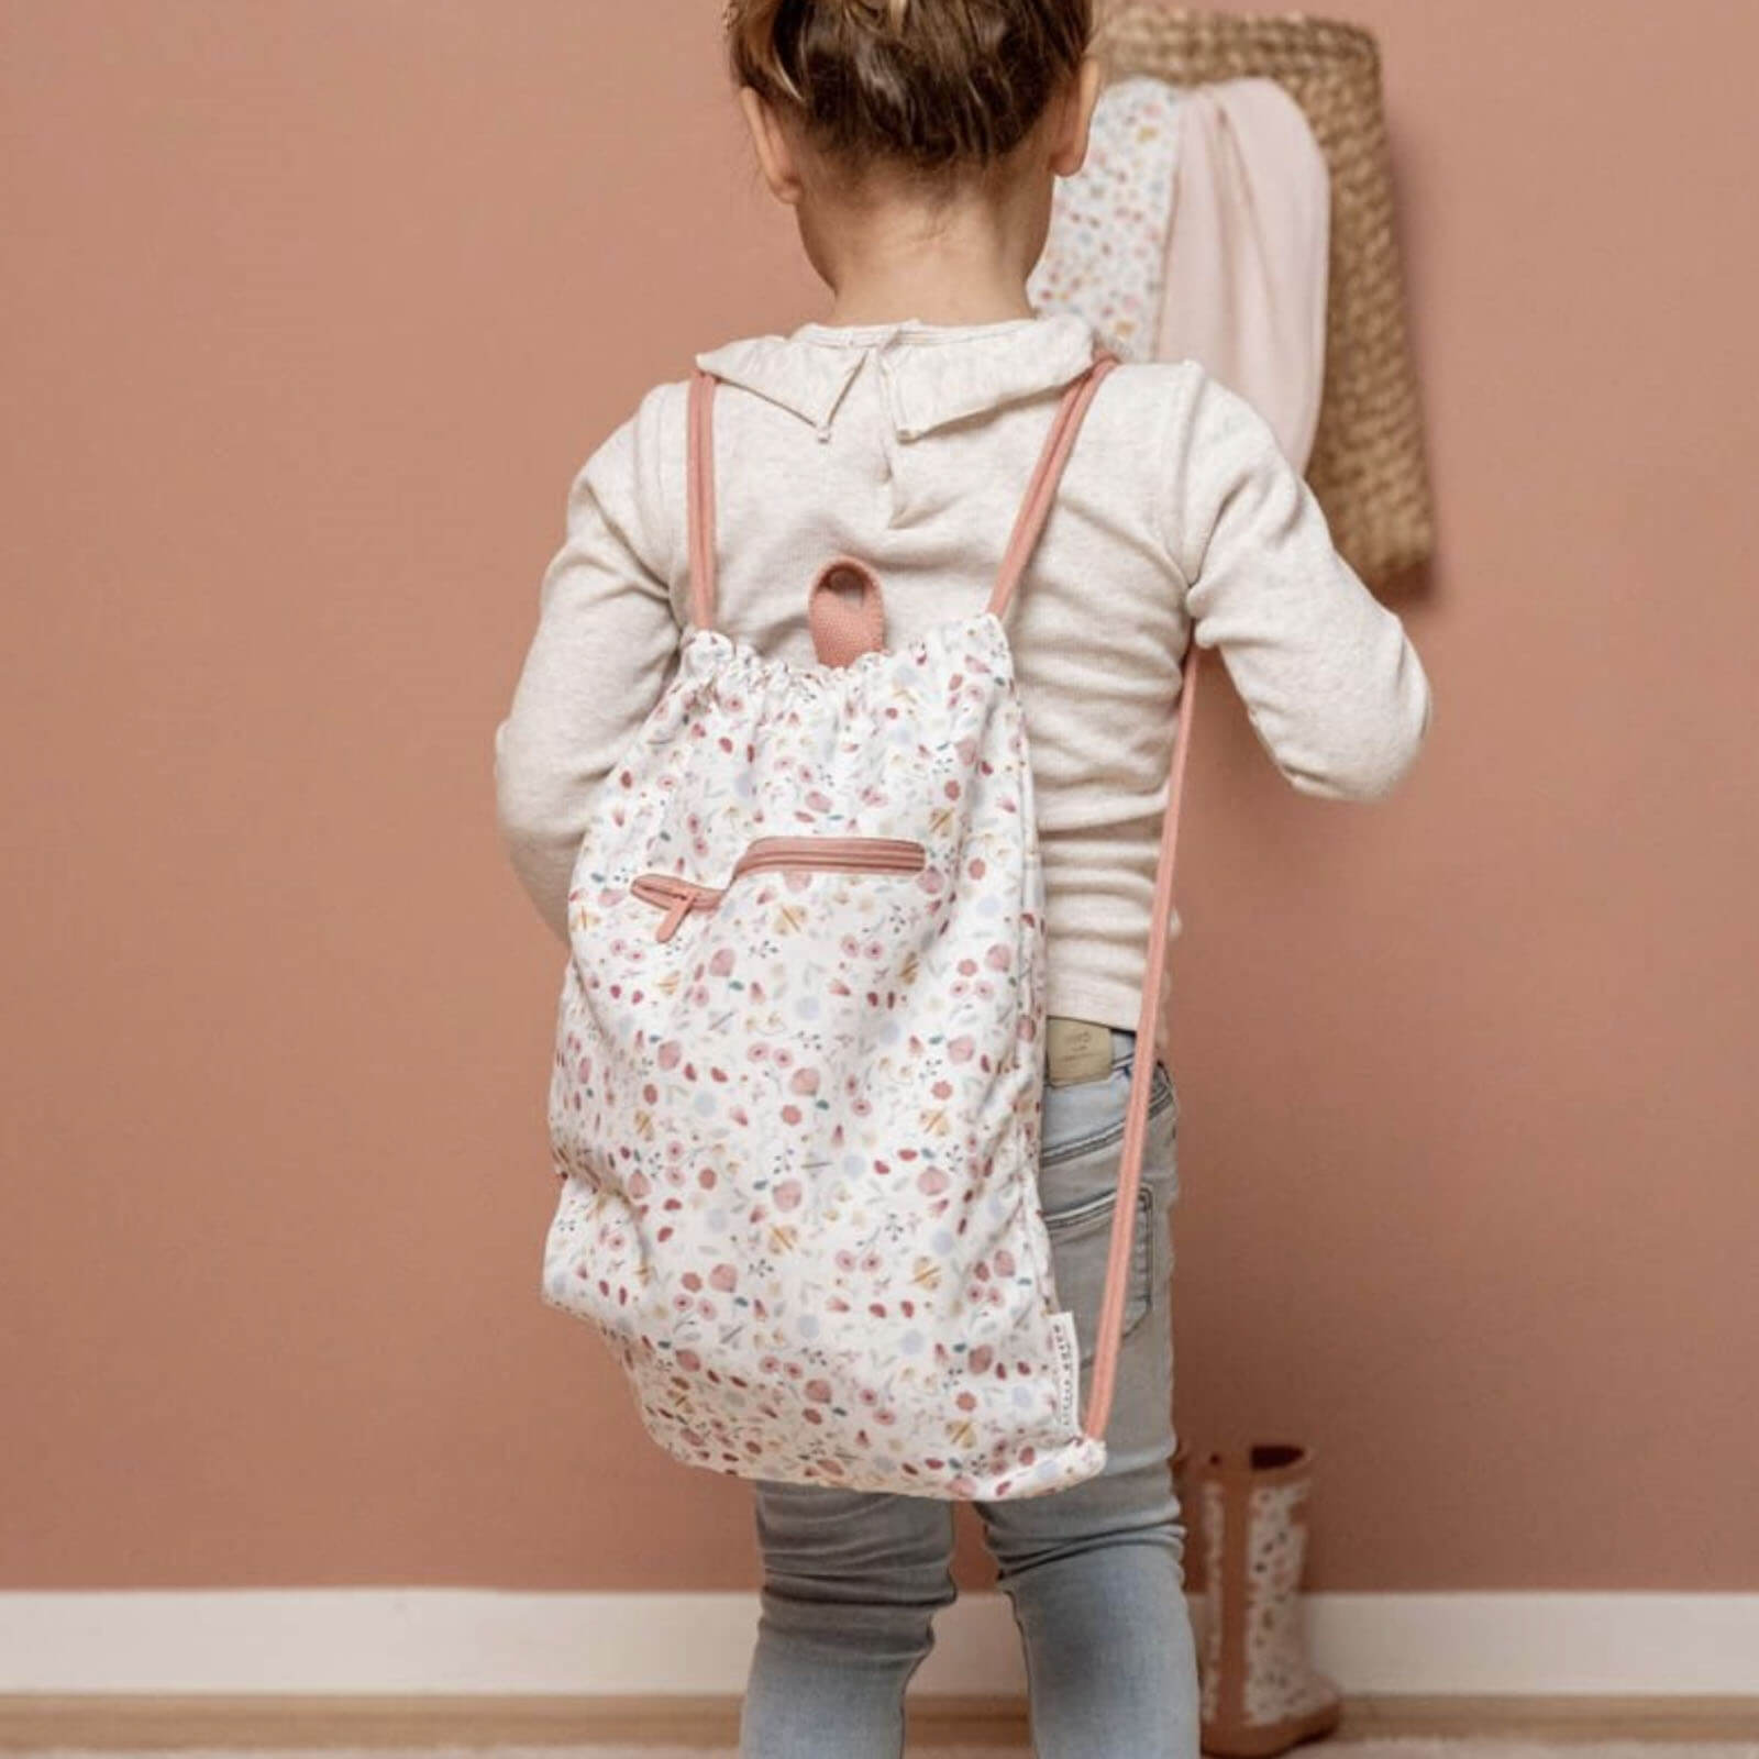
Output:
M1272 762L1302 793L1372 800L1416 762L1430 684L1400 619L1333 549L1270 424L1201 368L1177 399L1182 507L1166 524L1193 639L1217 649Z

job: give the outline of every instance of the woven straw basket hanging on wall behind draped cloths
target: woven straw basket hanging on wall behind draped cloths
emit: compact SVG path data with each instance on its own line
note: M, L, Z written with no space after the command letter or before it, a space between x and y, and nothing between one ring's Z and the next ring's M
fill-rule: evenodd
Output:
M1332 171L1325 389L1307 482L1332 542L1363 580L1427 559L1434 515L1374 35L1300 12L1122 0L1094 47L1108 79L1275 79L1307 113Z

